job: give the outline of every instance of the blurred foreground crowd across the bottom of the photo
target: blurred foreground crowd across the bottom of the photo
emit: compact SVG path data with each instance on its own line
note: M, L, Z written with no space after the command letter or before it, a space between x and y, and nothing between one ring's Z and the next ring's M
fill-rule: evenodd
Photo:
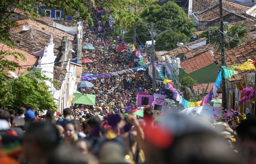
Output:
M230 124L165 113L156 119L132 110L103 114L95 106L75 105L63 113L38 117L33 107L0 105L1 164L254 164L256 120L236 113ZM80 108L80 109L79 109ZM11 122L12 121L12 122ZM12 123L12 124L11 124Z

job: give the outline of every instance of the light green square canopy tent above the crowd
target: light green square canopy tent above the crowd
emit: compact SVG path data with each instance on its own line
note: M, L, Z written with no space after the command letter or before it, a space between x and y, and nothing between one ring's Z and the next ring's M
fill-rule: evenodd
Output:
M94 94L73 93L73 95L75 96L75 98L72 100L73 103L95 105Z

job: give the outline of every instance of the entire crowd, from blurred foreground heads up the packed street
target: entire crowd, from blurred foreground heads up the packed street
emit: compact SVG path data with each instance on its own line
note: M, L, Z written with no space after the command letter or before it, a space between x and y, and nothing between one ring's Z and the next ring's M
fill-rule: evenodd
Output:
M111 35L101 13L84 21L83 74L106 74L140 66L116 52L122 39ZM99 28L100 27L100 28ZM230 120L178 113L170 106L143 106L134 114L136 95L153 95L148 70L102 76L79 88L94 94L95 105L73 104L46 114L32 106L7 109L0 104L0 164L255 164L256 120L236 112ZM169 98L172 98L170 95ZM176 106L177 107L177 106Z

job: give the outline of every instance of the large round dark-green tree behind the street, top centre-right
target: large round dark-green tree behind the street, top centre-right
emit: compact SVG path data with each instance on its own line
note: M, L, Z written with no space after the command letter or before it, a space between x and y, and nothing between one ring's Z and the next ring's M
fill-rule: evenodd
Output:
M167 2L163 6L150 5L141 13L136 24L137 43L145 44L151 40L150 22L153 22L154 31L158 34L155 50L170 50L176 48L173 43L184 42L193 36L196 29L195 21L184 13L181 7L174 2ZM133 28L125 34L125 41L132 42ZM185 42L184 42L185 43Z

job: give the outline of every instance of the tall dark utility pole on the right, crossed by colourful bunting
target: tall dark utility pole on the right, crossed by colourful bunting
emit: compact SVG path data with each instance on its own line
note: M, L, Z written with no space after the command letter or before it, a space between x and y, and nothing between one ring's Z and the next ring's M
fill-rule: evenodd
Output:
M224 45L224 30L223 30L223 16L222 16L222 0L219 0L219 15L221 21L221 66L225 66L225 45ZM222 81L222 107L227 109L227 99L226 99L226 79L221 74Z

